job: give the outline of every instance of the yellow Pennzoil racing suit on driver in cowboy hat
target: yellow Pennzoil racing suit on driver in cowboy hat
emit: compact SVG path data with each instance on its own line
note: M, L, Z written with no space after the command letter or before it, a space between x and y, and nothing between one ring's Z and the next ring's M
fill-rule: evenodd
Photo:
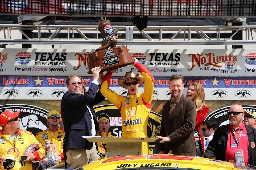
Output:
M112 72L108 71L102 80L101 94L115 105L122 117L121 137L147 137L147 122L151 110L151 101L154 90L154 77L147 68L137 62L134 65L143 76L144 93L122 96L109 89ZM142 142L142 152L148 154L147 142ZM141 154L143 154L141 153Z

